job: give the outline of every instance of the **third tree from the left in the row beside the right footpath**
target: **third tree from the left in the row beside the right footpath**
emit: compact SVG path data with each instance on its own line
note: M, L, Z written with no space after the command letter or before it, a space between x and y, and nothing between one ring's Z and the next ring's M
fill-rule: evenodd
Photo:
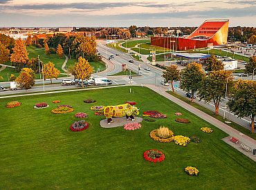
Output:
M201 82L199 97L205 102L214 102L215 115L219 115L219 103L226 97L226 82L232 81L231 72L226 70L213 71L208 73Z

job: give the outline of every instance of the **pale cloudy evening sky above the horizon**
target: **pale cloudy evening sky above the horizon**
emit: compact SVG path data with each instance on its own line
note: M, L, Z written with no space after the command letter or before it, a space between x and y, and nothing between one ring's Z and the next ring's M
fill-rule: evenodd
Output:
M256 27L256 0L0 0L0 27L199 26L205 19Z

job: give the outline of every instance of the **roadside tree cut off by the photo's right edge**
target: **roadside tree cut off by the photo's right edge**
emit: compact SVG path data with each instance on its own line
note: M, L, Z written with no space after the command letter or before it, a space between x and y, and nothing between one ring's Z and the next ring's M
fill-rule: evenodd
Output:
M238 80L234 84L234 92L230 95L228 108L238 117L248 117L251 120L251 133L254 133L254 118L256 116L256 82Z

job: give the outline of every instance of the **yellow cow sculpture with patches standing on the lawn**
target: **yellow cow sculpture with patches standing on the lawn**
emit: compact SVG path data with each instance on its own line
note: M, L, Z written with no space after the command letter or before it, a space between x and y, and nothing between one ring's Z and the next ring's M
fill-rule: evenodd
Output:
M107 123L113 122L112 117L124 117L126 116L127 120L129 117L134 121L133 115L138 115L139 109L130 104L120 104L117 106L105 106L104 115L107 118Z

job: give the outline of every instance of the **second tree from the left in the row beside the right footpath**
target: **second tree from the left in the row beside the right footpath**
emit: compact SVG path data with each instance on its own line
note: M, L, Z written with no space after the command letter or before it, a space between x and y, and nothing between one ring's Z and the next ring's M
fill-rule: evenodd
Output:
M191 91L191 102L194 102L194 93L200 88L205 73L202 65L197 63L188 64L181 70L181 88L184 91Z

